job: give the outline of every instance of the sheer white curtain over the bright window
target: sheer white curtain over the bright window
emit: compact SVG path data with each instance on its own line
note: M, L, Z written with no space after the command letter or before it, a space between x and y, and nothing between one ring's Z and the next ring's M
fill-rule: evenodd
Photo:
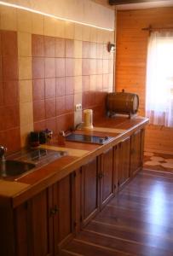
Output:
M154 125L173 126L173 32L149 38L146 114Z

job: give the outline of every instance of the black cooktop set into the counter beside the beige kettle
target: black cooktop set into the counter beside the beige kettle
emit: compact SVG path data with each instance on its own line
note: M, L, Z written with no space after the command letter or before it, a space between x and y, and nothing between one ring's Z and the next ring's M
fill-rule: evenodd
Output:
M100 137L100 136L92 136L85 134L75 134L71 133L66 136L66 141L78 142L78 143L92 143L92 144L100 144L103 145L108 143L112 137Z

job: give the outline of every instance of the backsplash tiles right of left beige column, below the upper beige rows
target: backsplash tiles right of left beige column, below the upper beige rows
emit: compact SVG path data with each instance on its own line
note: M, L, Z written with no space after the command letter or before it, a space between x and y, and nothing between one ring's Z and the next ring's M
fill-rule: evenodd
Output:
M57 133L73 126L75 93L82 93L83 108L101 115L112 65L107 44L33 34L34 129Z

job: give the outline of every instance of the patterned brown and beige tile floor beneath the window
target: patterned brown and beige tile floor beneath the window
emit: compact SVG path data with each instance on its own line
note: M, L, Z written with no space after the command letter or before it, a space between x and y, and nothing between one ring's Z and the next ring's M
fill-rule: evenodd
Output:
M144 168L161 172L173 172L173 154L144 152Z

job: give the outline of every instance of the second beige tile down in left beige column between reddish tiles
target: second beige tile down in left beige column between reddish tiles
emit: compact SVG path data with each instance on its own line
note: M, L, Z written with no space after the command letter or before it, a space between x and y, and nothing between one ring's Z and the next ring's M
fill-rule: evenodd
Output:
M19 79L32 79L32 57L19 57Z

